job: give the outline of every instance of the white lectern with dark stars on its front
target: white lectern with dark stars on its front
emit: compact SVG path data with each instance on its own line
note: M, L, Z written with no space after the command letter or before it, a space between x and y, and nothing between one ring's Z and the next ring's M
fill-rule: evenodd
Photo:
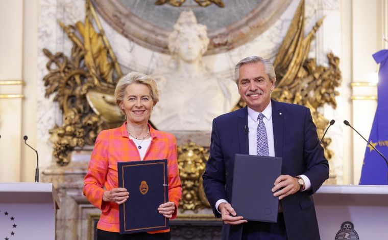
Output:
M55 239L52 183L0 183L0 239Z

